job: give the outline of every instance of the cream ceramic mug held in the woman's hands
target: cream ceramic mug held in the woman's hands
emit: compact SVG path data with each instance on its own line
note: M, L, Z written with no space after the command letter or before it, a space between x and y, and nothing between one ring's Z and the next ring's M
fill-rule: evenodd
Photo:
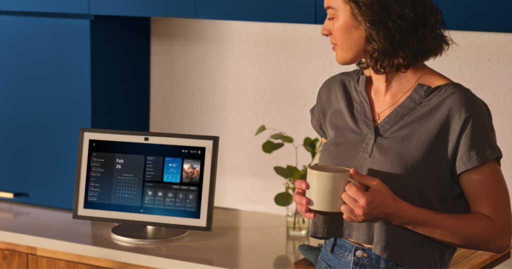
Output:
M342 194L348 183L357 181L350 177L350 169L332 165L313 165L308 168L306 181L309 189L306 197L313 211L340 212Z

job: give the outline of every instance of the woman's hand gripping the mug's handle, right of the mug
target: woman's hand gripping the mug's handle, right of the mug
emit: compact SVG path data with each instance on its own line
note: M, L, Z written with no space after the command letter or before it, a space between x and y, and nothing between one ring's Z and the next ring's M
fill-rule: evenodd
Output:
M342 199L343 218L354 222L373 222L389 219L400 201L380 179L350 169L350 176L367 188L348 184ZM366 189L366 190L365 190Z

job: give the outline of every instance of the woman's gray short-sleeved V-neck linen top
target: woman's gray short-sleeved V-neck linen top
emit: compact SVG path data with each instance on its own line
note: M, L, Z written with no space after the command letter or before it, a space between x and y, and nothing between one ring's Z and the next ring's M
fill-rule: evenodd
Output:
M421 208L467 213L458 175L502 157L490 111L460 84L418 84L377 127L361 70L329 78L311 108L313 129L327 139L319 164L355 168L381 179ZM489 178L492 180L492 178ZM355 223L341 213L317 214L310 236L351 238L407 267L448 267L456 247L388 221Z

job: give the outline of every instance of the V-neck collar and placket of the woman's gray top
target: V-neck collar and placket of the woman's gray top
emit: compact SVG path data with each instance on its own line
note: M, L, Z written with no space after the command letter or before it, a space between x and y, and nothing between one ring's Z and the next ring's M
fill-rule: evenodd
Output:
M366 93L367 77L362 73L362 70L359 69L355 79L355 91L359 99L359 106L357 106L358 111L355 111L355 113L357 113L356 115L359 117L358 122L362 133L367 136L365 143L366 153L361 155L370 157L376 137L384 136L397 122L407 116L426 96L428 96L432 88L424 84L417 84L409 96L374 127L370 101Z

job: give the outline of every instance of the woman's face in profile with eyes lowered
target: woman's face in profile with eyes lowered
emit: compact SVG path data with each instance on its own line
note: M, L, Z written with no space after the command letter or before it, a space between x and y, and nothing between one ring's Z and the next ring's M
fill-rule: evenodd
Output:
M352 65L364 58L365 31L357 24L345 0L325 0L327 12L322 35L329 37L336 61L340 65Z

